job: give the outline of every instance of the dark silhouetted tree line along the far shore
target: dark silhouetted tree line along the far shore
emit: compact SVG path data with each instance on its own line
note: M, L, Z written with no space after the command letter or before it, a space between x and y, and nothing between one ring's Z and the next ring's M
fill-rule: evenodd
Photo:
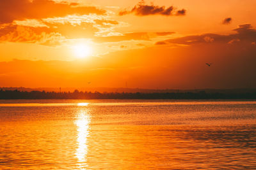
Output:
M0 90L0 99L256 99L256 92L171 92L171 93L100 93L100 92L45 92L19 90Z

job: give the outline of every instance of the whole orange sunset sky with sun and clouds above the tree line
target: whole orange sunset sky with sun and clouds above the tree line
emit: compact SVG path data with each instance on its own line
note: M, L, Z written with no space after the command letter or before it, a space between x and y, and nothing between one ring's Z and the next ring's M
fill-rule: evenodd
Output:
M0 1L0 87L256 88L255 6Z

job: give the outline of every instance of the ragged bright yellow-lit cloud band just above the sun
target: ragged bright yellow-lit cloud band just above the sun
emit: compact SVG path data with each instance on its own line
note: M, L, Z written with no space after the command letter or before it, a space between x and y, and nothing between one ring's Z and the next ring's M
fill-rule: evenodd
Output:
M96 14L67 15L66 17L44 18L42 20L15 20L12 24L0 25L0 41L40 43L44 42L40 37L45 38L45 36L40 36L41 34L61 36L61 42L63 39L88 39L105 34L117 35L114 29L122 26L122 24L122 22L110 20L108 16ZM43 43L43 45L60 45L61 42Z

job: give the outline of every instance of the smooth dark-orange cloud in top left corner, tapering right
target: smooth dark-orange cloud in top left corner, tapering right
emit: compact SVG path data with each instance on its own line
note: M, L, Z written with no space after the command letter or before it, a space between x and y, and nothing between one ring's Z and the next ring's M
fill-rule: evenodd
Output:
M77 3L56 3L51 0L8 0L0 1L0 24L14 20L65 17L66 15L85 15L96 13L103 15L104 10L95 6L79 6Z

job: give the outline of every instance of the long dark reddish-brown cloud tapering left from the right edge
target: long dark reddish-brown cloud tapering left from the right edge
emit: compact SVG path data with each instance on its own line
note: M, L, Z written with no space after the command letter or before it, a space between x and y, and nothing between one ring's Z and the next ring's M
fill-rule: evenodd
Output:
M184 36L182 38L166 39L159 41L156 45L165 44L181 44L181 45L196 45L198 43L226 43L233 44L234 42L247 42L252 43L256 39L256 29L253 29L251 24L239 25L234 29L236 34L220 35L220 34L202 34L196 36ZM239 39L239 41L237 41Z

